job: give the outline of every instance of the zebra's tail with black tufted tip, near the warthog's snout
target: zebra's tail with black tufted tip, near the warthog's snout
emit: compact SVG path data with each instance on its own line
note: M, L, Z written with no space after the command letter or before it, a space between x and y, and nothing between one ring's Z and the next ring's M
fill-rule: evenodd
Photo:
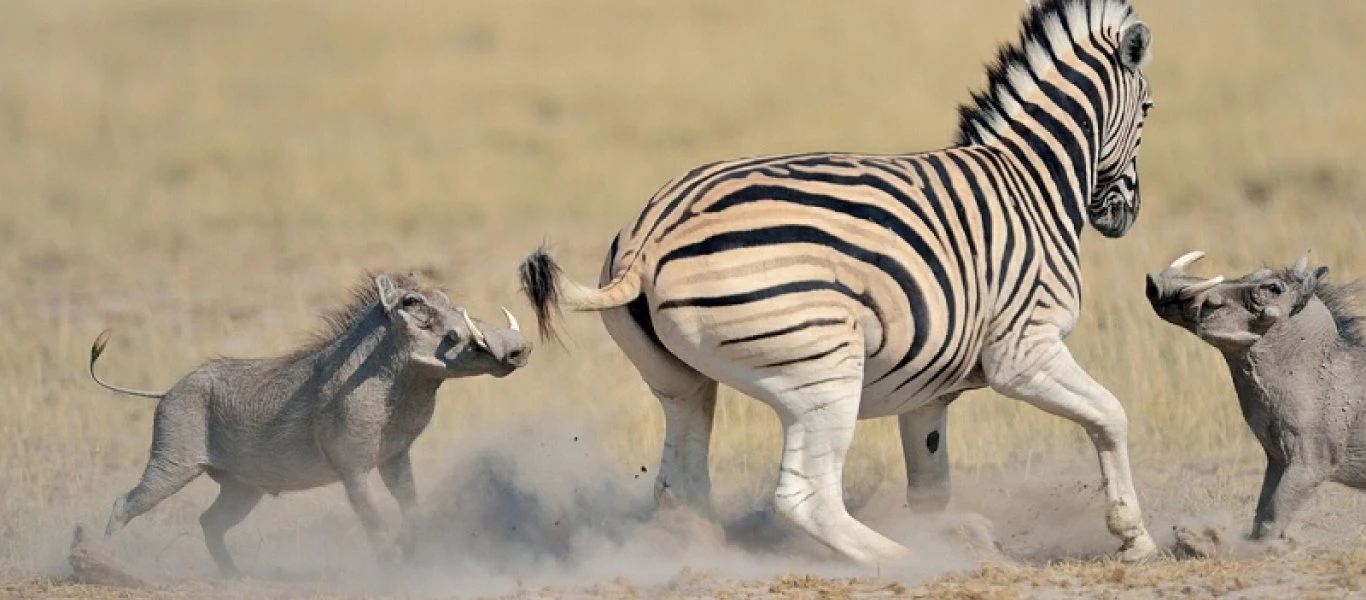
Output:
M552 323L561 308L570 310L607 310L626 306L641 295L639 262L632 262L624 272L602 288L593 288L566 277L560 265L550 258L545 246L538 247L522 261L522 292L531 301L535 318L541 327L541 339L557 339Z

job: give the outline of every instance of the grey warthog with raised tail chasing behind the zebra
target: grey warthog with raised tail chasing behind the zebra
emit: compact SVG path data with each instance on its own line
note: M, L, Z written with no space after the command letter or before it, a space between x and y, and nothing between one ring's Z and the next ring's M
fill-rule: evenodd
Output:
M307 346L276 358L217 358L167 392L111 385L94 372L109 332L90 349L90 376L122 394L158 398L142 480L113 503L105 538L201 473L219 482L199 517L204 541L225 575L238 573L223 536L262 493L342 481L381 559L413 556L417 491L408 447L432 420L436 391L454 377L503 377L531 353L512 313L508 328L470 318L415 276L367 277L351 303ZM378 467L403 523L393 545L366 476Z

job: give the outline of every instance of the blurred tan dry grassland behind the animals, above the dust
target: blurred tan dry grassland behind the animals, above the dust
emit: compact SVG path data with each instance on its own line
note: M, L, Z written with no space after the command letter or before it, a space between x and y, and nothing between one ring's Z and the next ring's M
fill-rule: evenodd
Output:
M1340 280L1366 276L1366 4L1138 5L1157 101L1143 210L1124 239L1083 236L1070 346L1128 409L1135 463L1258 459L1223 361L1150 313L1142 275L1190 249L1209 251L1199 272L1227 275L1313 249ZM40 537L75 518L102 523L141 473L153 403L89 381L102 328L116 329L109 379L165 388L216 354L285 351L365 268L426 269L477 314L508 305L530 324L515 282L527 251L550 241L594 280L615 231L698 163L945 145L1020 10L7 3L0 570L33 569L34 548L66 541ZM538 346L525 372L443 388L419 487L462 436L566 413L583 426L563 435L593 431L623 473L653 470L656 402L597 317L566 324L568 349ZM1078 426L985 391L955 405L948 440L968 474L1090 452ZM719 489L764 500L779 441L765 406L725 392ZM902 485L900 461L895 420L865 421L847 481ZM146 518L197 534L213 489ZM336 489L299 496L346 510Z

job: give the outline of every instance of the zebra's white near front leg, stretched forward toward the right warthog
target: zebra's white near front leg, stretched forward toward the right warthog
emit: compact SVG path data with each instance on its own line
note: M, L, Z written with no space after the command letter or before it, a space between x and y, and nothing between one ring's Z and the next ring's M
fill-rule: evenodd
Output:
M990 349L986 355L990 364L984 366L993 390L1086 429L1100 458L1109 504L1105 525L1123 541L1119 558L1137 562L1153 556L1157 545L1138 506L1128 463L1128 417L1119 399L1076 364L1061 339L1033 347Z

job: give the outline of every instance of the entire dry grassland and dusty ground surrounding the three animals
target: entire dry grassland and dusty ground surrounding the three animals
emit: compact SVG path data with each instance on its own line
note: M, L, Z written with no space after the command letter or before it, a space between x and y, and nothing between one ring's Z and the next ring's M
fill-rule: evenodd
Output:
M590 279L616 228L695 164L944 145L1022 4L376 7L7 3L0 596L1359 593L1366 500L1341 489L1322 491L1295 530L1303 545L1283 558L1106 562L1085 435L985 391L951 410L945 444L959 508L1003 547L986 567L951 526L981 519L919 522L902 507L887 418L859 425L846 484L859 515L915 558L870 573L785 536L761 510L776 418L728 391L712 465L727 534L652 517L660 409L591 317L566 318L568 347L540 347L523 372L443 388L414 447L428 510L418 564L374 566L328 487L264 502L228 534L251 577L217 581L197 522L214 487L197 481L105 547L154 588L67 581L72 528L102 528L150 435L150 402L85 373L101 329L115 328L109 379L164 388L206 357L287 351L366 268L422 268L475 314L510 305L526 321L514 269L527 251L550 241ZM1086 308L1068 344L1124 402L1154 533L1171 543L1173 525L1212 526L1239 549L1259 451L1223 362L1152 314L1142 273L1193 247L1209 251L1209 273L1313 249L1333 277L1366 276L1366 3L1139 10L1157 101L1143 212L1124 239L1085 234Z

